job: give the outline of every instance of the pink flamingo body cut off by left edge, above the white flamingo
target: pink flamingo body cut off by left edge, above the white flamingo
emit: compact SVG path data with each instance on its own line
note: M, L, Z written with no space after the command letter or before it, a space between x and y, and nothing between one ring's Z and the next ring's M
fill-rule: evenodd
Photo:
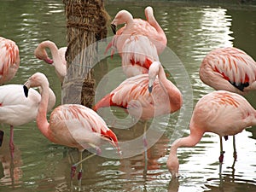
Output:
M13 79L19 67L19 47L14 41L0 37L0 84Z

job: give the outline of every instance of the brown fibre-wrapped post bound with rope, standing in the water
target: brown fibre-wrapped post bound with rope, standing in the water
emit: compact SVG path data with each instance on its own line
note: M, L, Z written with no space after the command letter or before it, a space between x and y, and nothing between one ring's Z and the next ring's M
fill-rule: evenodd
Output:
M98 62L96 41L107 37L109 15L102 0L63 0L67 16L67 76L61 102L92 107L95 79L92 67Z

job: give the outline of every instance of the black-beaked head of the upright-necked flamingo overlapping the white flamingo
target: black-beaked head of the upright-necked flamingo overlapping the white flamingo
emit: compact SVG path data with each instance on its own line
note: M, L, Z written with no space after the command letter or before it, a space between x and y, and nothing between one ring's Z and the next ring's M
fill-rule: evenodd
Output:
M44 73L34 73L29 79L27 79L26 83L23 85L24 94L28 96L28 90L32 87L42 87L45 84L49 87L49 82Z

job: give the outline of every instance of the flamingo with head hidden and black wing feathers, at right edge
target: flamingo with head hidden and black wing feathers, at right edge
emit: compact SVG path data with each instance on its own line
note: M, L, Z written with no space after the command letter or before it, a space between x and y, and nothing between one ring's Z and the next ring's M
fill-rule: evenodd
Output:
M201 63L200 78L215 90L244 95L256 90L256 62L241 49L213 49Z

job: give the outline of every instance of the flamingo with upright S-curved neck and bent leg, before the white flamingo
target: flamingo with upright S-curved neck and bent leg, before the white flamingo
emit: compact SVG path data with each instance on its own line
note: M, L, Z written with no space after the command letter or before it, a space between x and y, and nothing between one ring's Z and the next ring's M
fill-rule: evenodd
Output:
M52 143L79 149L79 162L72 166L72 177L76 166L80 165L80 184L84 148L93 147L99 151L102 141L108 141L118 148L118 139L95 111L79 104L58 106L50 113L48 122L46 112L49 102L49 81L44 73L34 73L24 84L24 92L27 96L29 88L38 86L42 89L37 115L38 129Z

